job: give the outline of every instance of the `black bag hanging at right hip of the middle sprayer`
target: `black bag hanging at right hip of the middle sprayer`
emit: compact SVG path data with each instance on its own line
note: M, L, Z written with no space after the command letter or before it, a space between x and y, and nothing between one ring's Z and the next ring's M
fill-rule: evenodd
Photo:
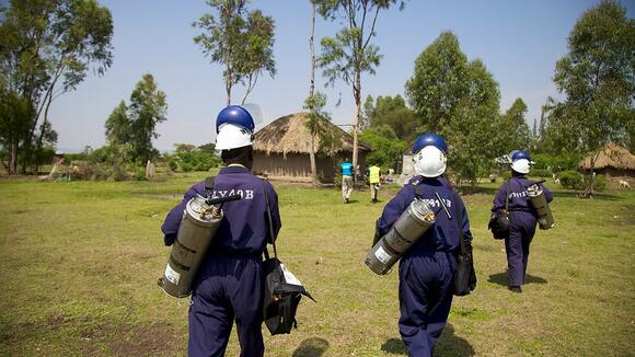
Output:
M457 195L457 203L459 195ZM476 272L474 272L474 260L472 255L472 243L463 239L463 216L455 204L455 218L459 226L459 254L457 255L457 269L454 270L454 295L462 297L470 295L476 288Z

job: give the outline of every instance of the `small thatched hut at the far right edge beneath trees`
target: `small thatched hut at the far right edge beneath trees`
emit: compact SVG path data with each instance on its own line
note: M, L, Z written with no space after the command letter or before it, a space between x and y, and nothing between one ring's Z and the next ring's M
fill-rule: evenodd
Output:
M635 156L624 147L610 142L597 154L591 154L580 161L578 169L591 170L593 159L596 160L593 171L598 174L613 177L635 176Z

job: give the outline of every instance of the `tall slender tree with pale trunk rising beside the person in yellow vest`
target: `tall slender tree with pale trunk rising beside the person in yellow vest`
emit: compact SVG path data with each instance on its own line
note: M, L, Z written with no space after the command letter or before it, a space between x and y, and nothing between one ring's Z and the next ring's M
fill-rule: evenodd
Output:
M359 117L361 113L361 74L374 74L381 55L379 47L370 41L377 34L376 25L379 12L388 10L400 2L396 0L315 0L318 11L327 20L339 19L346 26L335 37L324 37L321 41L322 55L318 59L323 74L333 85L336 80L343 80L353 88L355 113L353 117L353 166L357 166L357 148Z

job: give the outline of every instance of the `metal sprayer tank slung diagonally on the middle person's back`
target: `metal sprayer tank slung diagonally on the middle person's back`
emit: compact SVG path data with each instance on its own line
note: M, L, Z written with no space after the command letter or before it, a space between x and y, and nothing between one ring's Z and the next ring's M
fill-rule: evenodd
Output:
M366 265L376 274L385 275L434 223L435 212L425 201L416 198L390 231L370 249Z

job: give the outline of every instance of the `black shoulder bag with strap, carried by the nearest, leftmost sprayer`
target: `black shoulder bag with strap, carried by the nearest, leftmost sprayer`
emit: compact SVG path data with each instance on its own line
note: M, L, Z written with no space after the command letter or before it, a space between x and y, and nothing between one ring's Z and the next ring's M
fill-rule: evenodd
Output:
M269 239L274 245L274 257L269 257L269 252L265 249L265 261L263 262L263 276L265 280L263 318L272 335L287 334L291 332L291 327L298 329L296 311L298 310L302 295L313 301L315 299L304 289L302 283L285 267L285 264L278 260L266 187L265 203L267 205L267 217L269 219Z

